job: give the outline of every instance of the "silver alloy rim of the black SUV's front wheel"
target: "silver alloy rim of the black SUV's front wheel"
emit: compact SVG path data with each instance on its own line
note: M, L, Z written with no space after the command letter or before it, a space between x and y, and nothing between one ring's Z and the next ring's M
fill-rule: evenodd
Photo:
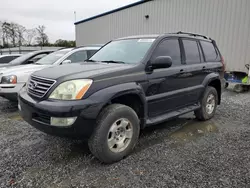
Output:
M117 120L108 132L108 147L114 152L124 151L131 142L133 136L133 127L131 122L126 118Z

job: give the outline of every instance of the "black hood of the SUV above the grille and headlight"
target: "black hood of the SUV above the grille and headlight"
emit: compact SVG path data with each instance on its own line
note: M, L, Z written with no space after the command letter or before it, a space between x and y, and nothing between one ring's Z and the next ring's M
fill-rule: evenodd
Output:
M115 63L76 63L70 65L61 65L50 67L34 73L34 75L44 78L57 80L64 76L73 76L75 78L92 78L97 75L108 72L116 72L131 68L133 65L115 64Z

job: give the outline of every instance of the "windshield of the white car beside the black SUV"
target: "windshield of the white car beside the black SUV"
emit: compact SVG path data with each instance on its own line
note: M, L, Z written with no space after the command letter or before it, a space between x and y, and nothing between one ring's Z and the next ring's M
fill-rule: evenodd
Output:
M44 58L40 59L37 61L35 64L39 65L52 65L54 64L57 60L59 60L62 56L64 56L66 53L71 51L71 49L64 49L64 50L59 50L56 52L53 52Z

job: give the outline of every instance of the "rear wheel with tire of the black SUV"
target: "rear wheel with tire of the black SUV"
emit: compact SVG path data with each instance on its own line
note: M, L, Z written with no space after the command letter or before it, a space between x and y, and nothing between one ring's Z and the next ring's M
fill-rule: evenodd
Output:
M201 108L196 110L195 116L198 120L206 121L211 119L218 104L218 93L214 87L208 86L201 100Z

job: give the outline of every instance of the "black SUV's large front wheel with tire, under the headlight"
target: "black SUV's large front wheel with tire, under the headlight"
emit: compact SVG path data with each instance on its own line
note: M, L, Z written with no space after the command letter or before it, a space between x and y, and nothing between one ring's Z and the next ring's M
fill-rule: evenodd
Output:
M139 118L132 108L109 105L97 118L97 127L88 141L89 149L101 162L120 161L134 149L139 132Z

